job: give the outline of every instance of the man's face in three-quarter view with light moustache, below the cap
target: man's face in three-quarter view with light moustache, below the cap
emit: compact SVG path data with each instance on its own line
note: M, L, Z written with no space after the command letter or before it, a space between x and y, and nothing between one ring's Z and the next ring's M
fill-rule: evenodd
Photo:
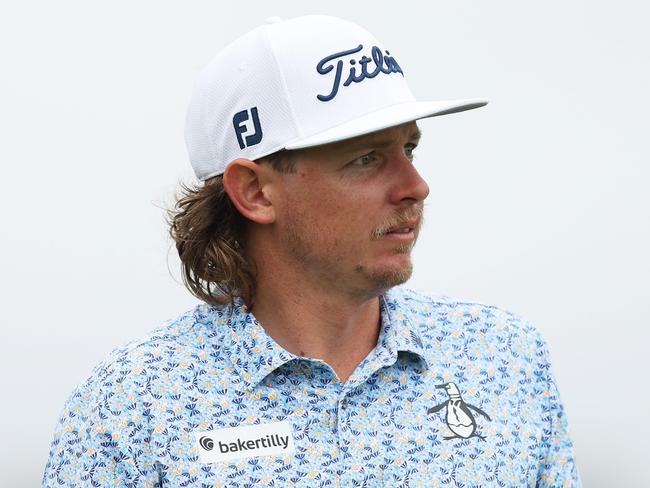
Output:
M302 150L283 174L274 234L301 275L357 297L405 282L429 187L415 122Z

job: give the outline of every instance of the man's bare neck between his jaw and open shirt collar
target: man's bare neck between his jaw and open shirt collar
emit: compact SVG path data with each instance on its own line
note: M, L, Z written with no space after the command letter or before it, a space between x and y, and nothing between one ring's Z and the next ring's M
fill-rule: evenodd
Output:
M320 359L345 382L377 345L377 296L346 295L338 287L259 270L253 314L285 350Z

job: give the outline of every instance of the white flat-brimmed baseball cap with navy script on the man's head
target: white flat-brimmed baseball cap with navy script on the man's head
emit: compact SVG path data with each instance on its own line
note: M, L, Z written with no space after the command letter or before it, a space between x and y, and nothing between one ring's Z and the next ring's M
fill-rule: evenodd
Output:
M259 159L349 139L483 99L416 101L399 56L352 22L324 15L269 19L201 72L185 141L200 180Z

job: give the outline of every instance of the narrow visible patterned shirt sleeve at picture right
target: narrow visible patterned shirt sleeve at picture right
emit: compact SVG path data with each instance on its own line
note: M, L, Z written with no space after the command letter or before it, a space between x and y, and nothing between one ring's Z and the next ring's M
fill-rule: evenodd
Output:
M540 367L543 368L546 377L546 391L543 396L547 399L544 406L544 421L548 427L544 429L542 436L546 454L540 460L537 486L539 488L581 487L573 443L569 436L568 421L553 375L548 346L541 336L538 338L538 346Z

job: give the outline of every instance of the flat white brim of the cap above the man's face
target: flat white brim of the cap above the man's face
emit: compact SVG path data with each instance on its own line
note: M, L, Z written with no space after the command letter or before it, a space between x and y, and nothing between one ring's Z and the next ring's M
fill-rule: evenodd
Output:
M479 108L487 103L487 100L480 98L438 102L404 102L371 112L318 134L294 139L285 148L302 149L343 141L414 120Z

